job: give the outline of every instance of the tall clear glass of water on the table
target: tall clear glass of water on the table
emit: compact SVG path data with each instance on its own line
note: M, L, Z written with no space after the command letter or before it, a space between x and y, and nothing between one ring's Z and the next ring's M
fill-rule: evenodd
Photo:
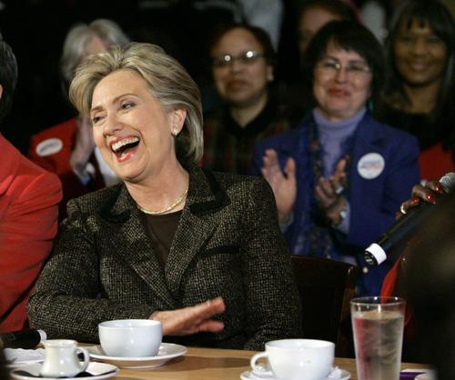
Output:
M406 301L371 296L350 302L359 380L398 380Z

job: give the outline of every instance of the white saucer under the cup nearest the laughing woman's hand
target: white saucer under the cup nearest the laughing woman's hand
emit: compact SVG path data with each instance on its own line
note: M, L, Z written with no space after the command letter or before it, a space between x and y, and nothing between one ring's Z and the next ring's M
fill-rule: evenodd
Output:
M187 347L183 345L175 345L173 343L162 343L159 346L159 351L156 356L146 357L119 357L119 356L108 356L101 348L101 345L92 345L86 347L90 357L101 362L109 363L111 365L117 365L121 368L154 368L160 365L164 365L169 360L175 357L187 354Z

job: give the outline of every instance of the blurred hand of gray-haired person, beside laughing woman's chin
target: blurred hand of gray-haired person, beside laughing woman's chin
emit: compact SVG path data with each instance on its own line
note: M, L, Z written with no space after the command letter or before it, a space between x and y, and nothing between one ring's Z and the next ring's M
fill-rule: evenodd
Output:
M86 174L86 164L94 148L92 122L89 117L80 115L77 117L75 147L69 157L69 164L76 170L76 173Z

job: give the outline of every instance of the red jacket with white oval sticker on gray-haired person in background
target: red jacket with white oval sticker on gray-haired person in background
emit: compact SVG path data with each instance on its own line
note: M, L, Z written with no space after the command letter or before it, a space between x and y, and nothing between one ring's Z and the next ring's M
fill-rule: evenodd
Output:
M44 167L49 172L56 173L62 181L63 202L60 205L61 218L66 215L67 201L106 186L94 155L89 161L95 167L95 179L87 185L81 183L73 172L73 168L69 165L69 158L75 145L76 130L76 117L47 128L32 136L28 152L29 158L35 164Z

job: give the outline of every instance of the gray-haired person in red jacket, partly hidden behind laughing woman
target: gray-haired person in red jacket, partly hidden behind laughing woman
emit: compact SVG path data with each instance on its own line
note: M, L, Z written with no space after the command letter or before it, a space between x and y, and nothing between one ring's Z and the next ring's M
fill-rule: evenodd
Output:
M120 26L111 20L97 19L88 25L73 26L66 35L60 61L65 94L76 66L87 55L105 51L110 45L126 45L128 42ZM88 117L78 115L33 135L28 156L60 177L64 193L61 219L66 216L69 199L118 182L95 147Z

